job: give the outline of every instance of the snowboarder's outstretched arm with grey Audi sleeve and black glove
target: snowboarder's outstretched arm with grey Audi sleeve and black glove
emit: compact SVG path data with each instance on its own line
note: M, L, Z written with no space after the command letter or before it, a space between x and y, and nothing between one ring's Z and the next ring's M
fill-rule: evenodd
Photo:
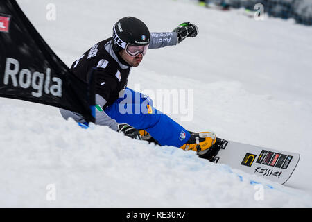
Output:
M189 22L184 22L168 33L150 33L148 49L159 49L166 46L175 46L186 37L196 37L198 28Z

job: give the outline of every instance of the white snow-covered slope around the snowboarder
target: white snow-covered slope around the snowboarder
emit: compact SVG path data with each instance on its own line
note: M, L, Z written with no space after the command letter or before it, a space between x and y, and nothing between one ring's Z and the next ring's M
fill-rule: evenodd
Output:
M0 207L312 207L311 27L182 0L17 2L68 66L121 17L138 17L155 32L197 24L198 37L148 51L128 87L193 89L193 119L170 114L188 130L214 130L301 160L278 185L105 126L83 130L54 107L1 98ZM55 21L46 19L49 3ZM250 180L265 187L263 200Z

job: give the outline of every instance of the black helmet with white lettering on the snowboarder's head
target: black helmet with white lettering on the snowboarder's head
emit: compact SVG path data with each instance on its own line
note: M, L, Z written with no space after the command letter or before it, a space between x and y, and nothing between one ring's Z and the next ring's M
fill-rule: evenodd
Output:
M124 17L113 27L112 48L115 52L130 45L147 46L150 43L150 31L144 22L135 17Z

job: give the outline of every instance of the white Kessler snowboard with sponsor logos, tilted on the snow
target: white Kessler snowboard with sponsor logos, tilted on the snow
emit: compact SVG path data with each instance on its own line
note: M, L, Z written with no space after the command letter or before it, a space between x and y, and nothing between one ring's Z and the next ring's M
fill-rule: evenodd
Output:
M299 160L298 153L279 151L272 148L242 144L217 138L216 144L199 157L217 164L227 164L233 169L262 176L284 184L292 175Z

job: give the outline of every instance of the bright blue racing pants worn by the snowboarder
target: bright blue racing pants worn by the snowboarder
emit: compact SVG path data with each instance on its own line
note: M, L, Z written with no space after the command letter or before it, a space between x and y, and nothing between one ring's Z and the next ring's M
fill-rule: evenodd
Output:
M148 96L129 88L104 111L118 123L128 123L137 129L146 130L162 146L180 147L190 137L189 131L155 109Z

